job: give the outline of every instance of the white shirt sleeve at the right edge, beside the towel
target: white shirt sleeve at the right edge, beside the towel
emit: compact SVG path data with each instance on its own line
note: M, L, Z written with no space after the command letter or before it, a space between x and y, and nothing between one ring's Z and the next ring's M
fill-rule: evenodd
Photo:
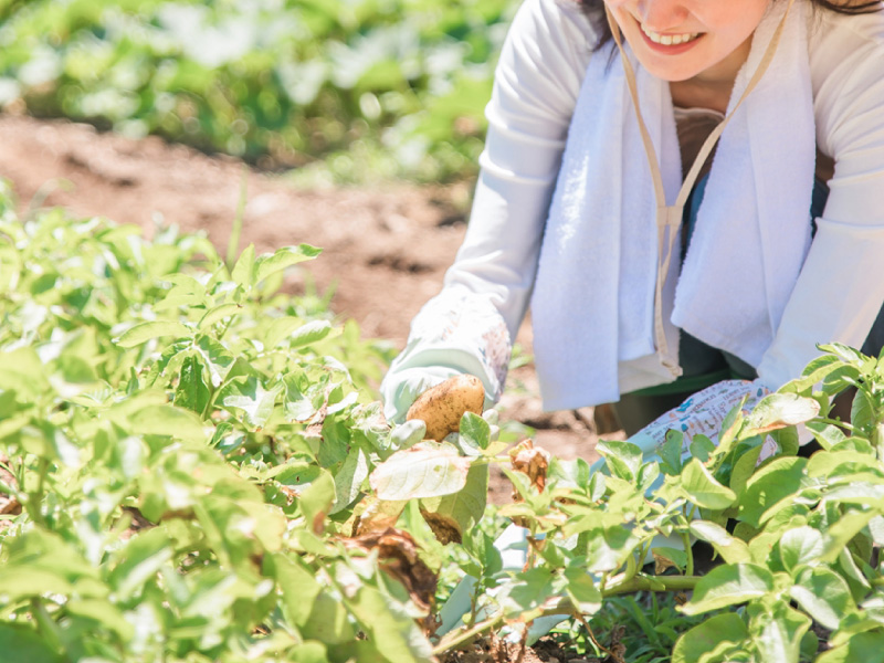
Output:
M817 139L834 158L830 194L774 344L758 366L774 389L818 344L862 346L884 303L884 14L841 17L811 50Z

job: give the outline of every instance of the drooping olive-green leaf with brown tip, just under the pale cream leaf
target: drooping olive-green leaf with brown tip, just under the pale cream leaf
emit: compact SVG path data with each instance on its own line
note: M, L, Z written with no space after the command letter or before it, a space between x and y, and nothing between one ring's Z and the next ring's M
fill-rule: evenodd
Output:
M464 487L456 493L421 499L421 515L443 544L461 541L464 532L478 525L487 498L488 466L476 464L470 467Z

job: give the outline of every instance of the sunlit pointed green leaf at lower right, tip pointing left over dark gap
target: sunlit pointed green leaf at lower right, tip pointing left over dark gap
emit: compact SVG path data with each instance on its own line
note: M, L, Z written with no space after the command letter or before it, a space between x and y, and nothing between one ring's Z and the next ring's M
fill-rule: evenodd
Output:
M774 590L774 576L754 564L715 567L703 576L690 602L682 606L686 614L701 614L727 606L745 603Z

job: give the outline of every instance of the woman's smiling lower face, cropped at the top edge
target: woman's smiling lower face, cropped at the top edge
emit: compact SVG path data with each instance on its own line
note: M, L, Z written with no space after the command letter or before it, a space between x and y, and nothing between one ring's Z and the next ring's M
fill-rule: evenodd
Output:
M604 0L635 56L664 81L733 77L770 0Z

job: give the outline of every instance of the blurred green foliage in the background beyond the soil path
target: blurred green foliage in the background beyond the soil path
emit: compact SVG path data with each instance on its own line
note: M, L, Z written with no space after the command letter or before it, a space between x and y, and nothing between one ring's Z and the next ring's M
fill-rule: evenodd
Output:
M513 0L0 4L0 104L269 167L470 175Z

